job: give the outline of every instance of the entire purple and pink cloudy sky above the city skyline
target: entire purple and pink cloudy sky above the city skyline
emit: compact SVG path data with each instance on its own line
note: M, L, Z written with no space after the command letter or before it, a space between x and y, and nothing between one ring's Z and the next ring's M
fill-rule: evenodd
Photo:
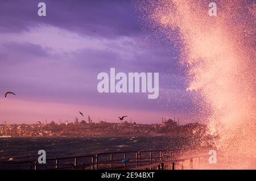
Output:
M43 1L46 17L39 2L0 2L0 124L73 121L78 111L111 122L126 114L138 123L195 121L200 104L185 91L179 50L142 30L130 1ZM159 98L98 93L97 74L110 68L158 72ZM17 95L5 99L6 91Z

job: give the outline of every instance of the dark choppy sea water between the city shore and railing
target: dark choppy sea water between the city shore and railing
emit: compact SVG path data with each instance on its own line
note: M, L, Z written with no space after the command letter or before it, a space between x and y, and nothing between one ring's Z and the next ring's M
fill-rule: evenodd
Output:
M0 138L0 169L11 169L11 162L37 158L38 150L45 150L47 158L53 158L112 151L180 149L188 145L188 138L171 136Z

